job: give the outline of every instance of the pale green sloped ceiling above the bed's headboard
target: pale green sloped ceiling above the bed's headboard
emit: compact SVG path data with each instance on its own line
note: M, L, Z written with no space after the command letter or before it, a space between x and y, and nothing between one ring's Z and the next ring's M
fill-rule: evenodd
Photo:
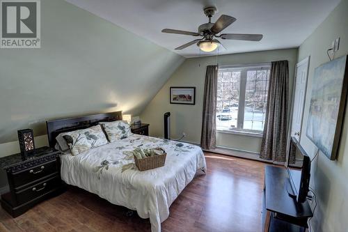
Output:
M41 1L41 49L1 49L0 144L45 121L139 114L184 58L63 0Z

